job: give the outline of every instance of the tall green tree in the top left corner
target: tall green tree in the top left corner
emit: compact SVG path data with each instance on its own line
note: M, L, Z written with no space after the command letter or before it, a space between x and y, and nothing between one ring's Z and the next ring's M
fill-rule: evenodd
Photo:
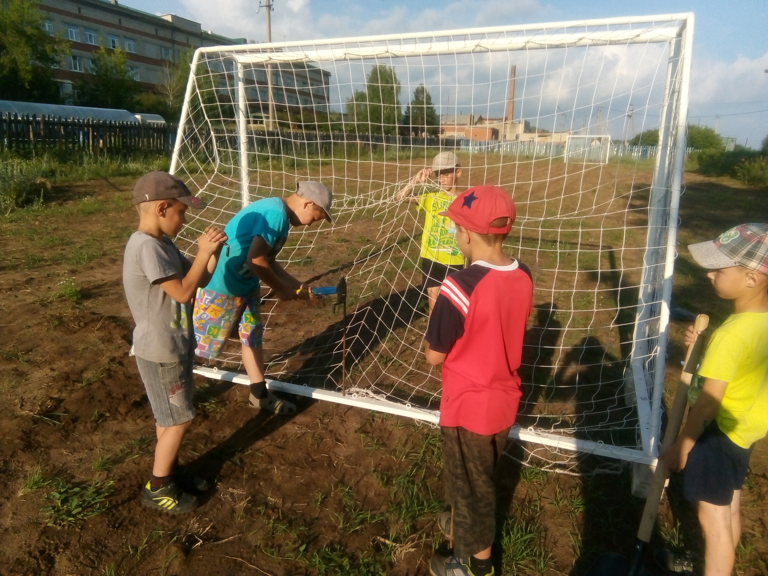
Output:
M0 0L0 99L58 102L53 71L68 42L43 30L37 2Z

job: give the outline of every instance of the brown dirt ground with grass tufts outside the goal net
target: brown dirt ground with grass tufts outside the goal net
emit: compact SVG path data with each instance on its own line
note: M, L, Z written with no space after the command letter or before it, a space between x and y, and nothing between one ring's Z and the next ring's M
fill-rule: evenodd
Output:
M686 180L681 245L765 214L764 190ZM0 220L0 574L429 574L441 541L439 433L408 419L306 399L293 416L268 416L247 406L246 390L199 379L181 460L215 488L190 515L141 507L154 420L127 357L132 185L59 187ZM685 250L676 269L674 306L717 326L727 303ZM685 326L671 329L670 384ZM759 442L743 492L746 576L768 573L766 456ZM642 501L627 469L581 478L505 467L509 515L495 551L505 574L578 576L601 551L631 554ZM677 482L653 544L700 554Z

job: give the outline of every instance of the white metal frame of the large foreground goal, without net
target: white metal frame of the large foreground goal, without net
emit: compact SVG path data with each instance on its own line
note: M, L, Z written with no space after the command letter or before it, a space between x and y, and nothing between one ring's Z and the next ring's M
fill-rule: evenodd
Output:
M650 28L642 26L651 22L654 25ZM606 29L589 30L589 28L597 26ZM244 65L257 63L270 66L292 61L356 60L375 58L385 54L388 57L418 57L513 49L547 50L574 46L668 43L669 60L660 114L661 137L650 187L647 241L641 273L641 290L637 302L634 339L629 362L630 369L627 370L625 382L626 392L629 396L634 396L634 400L637 402L641 446L637 449L611 446L603 442L592 442L553 432L521 429L519 427L513 428L510 433L511 437L546 445L554 449L588 452L619 458L627 462L653 465L657 458L660 436L664 362L667 352L680 185L686 148L693 31L694 15L693 13L685 13L318 40L317 44L322 48L313 48L311 41L197 48L190 67L190 78L187 81L187 91L170 164L170 173L176 173L180 167L180 150L184 144L185 128L190 121L190 98L194 92L194 74L201 58L204 58L207 53L216 53L233 61L237 97L233 104L237 119L237 144L240 154L240 196L244 206L250 203L250 174L247 161L247 100L242 81ZM498 38L492 39L482 38L482 35L492 32L515 34L511 36L499 35ZM472 38L472 35L475 35L475 38ZM477 39L477 35L481 35L481 38ZM460 39L433 41L435 37ZM592 136L592 138L594 137ZM608 138L610 140L610 137ZM607 148L610 151L610 145ZM568 144L566 144L565 151L567 154ZM607 160L608 157L605 158L605 161ZM651 297L658 286L662 286L660 300ZM195 372L207 378L245 385L249 383L248 379L239 372L201 366L197 366ZM339 392L297 386L276 380L267 380L267 386L273 390L290 392L300 396L405 415L435 425L439 422L439 412L408 404L398 404L375 398L356 398L354 395L344 396Z

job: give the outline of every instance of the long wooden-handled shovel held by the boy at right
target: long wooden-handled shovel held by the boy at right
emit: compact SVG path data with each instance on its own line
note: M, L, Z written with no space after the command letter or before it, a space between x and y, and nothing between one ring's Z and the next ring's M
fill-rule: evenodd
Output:
M709 323L710 317L707 314L699 314L694 322L694 330L698 333L706 329ZM664 431L664 442L661 444L659 453L667 450L680 433L680 425L683 423L685 407L688 402L690 381L693 379L699 365L703 346L704 339L700 334L696 337L696 341L688 346L683 372L680 373L680 382L677 383L677 390L674 393L672 409L670 409L669 420L667 421L667 429ZM624 574L627 574L627 576L644 576L648 574L645 568L643 568L643 557L645 547L650 542L650 535L654 531L656 513L666 483L667 467L664 465L664 462L658 462L654 470L654 478L650 481L648 498L645 501L640 528L637 530L637 545L635 545L632 561L630 562L621 554L614 554L613 552L601 554L594 563L594 566L584 576L624 576Z

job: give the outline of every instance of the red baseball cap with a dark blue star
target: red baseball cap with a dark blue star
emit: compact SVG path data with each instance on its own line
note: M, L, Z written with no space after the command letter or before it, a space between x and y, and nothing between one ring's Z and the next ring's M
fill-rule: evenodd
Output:
M448 210L439 214L478 234L506 234L515 221L515 203L498 186L483 184L464 190L453 200ZM497 218L506 218L507 223L492 227L491 223Z

